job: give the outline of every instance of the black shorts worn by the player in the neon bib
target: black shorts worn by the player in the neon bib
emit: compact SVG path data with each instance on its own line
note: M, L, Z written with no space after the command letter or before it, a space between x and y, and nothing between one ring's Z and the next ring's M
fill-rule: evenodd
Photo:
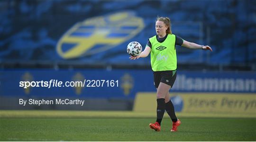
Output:
M154 71L154 85L158 88L160 82L173 87L176 80L177 70L174 71Z

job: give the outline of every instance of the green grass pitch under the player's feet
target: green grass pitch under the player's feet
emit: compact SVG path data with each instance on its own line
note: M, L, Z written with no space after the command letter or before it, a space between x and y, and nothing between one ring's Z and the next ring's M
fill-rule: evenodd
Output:
M148 116L132 112L1 111L0 141L256 141L256 118L180 117L179 131L170 132L171 121L165 114L161 131L155 132L148 126L155 118Z

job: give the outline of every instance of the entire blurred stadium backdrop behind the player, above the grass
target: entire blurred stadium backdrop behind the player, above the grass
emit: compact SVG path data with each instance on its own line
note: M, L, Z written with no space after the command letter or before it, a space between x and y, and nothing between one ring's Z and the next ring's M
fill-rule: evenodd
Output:
M250 117L256 126L254 5L255 0L0 1L1 118L29 116L21 110L122 110L153 112L145 116L154 118L150 57L129 60L126 46L137 41L144 49L155 35L156 17L163 16L171 19L175 35L213 49L176 46L178 76L170 95L180 116ZM51 79L119 80L119 87L19 87L19 81ZM19 98L81 98L85 105L22 106Z

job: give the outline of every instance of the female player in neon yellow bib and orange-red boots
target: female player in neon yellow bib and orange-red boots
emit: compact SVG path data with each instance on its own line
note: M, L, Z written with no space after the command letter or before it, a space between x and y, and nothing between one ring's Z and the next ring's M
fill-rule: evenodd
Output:
M183 40L172 34L171 21L167 17L158 17L155 22L156 35L149 38L146 48L138 56L131 56L135 60L140 57L147 57L151 53L151 67L154 72L154 85L156 91L156 122L150 123L149 127L155 131L161 130L161 121L165 110L173 121L172 132L176 132L181 121L177 119L174 112L174 105L170 101L169 90L173 87L177 75L177 58L175 45L189 49L212 49L208 45L199 45Z

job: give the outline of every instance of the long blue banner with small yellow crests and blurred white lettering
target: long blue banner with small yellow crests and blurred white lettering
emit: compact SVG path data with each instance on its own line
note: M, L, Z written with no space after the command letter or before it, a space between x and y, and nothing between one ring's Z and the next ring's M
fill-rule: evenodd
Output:
M76 81L81 86L71 87ZM156 91L153 84L150 70L0 71L0 96L5 97L133 99L137 92ZM256 73L177 71L171 91L255 93Z

